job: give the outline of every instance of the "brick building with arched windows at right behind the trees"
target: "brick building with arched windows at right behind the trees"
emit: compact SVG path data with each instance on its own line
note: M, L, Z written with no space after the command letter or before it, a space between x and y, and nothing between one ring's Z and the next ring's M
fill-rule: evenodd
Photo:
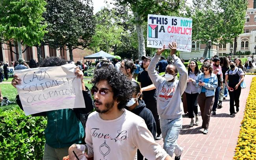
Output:
M244 33L237 37L236 51L250 51L251 54L256 53L256 0L248 0L248 7L245 16ZM180 57L183 59L197 59L202 57L206 44L200 44L199 40L192 41L191 53L181 52ZM230 50L231 49L231 50ZM222 44L219 46L211 46L210 56L213 55L229 55L231 51L234 54L234 41L233 43ZM208 57L208 53L207 53ZM241 56L244 57L244 56Z

